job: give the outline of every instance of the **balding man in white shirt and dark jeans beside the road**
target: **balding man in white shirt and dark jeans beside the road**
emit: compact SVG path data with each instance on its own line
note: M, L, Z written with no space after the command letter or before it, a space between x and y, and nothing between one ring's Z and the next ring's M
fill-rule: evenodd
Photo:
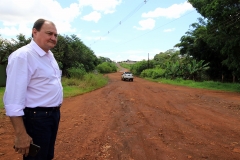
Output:
M38 19L32 37L8 58L3 100L15 130L15 151L24 160L51 160L63 100L61 71L50 51L57 43L55 24ZM41 147L35 157L28 155L30 143Z

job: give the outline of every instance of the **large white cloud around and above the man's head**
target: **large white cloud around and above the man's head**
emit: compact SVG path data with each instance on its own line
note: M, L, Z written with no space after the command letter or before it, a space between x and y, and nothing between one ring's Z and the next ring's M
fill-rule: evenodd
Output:
M1 0L0 34L5 36L19 33L31 35L33 23L38 18L53 21L58 32L75 32L71 22L80 15L79 5L62 8L56 0Z

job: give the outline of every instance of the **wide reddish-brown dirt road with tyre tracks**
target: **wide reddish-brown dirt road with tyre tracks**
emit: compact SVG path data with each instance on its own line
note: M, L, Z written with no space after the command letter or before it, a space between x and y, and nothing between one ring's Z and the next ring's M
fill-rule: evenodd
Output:
M240 159L240 94L108 76L64 100L55 160ZM1 160L20 157L4 117L0 143Z

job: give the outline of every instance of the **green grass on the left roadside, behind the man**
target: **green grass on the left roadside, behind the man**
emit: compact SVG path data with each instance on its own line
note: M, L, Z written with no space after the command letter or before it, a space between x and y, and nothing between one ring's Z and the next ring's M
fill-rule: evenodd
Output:
M91 92L105 86L108 83L108 77L102 74L86 74L83 79L62 78L64 98L81 95ZM3 108L3 94L5 87L0 87L0 109Z

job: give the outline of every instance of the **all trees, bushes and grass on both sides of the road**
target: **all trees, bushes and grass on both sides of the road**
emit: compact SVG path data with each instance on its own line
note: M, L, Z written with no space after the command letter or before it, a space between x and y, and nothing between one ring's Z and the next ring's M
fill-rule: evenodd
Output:
M190 25L175 49L160 52L149 61L121 66L135 76L160 83L240 92L240 6L238 1L218 1L189 0L202 18ZM8 56L30 41L23 34L12 40L0 36L0 65L6 66ZM107 84L103 74L117 71L111 59L97 57L76 35L59 35L52 52L62 70L64 96L102 87ZM0 88L1 97L3 91Z

